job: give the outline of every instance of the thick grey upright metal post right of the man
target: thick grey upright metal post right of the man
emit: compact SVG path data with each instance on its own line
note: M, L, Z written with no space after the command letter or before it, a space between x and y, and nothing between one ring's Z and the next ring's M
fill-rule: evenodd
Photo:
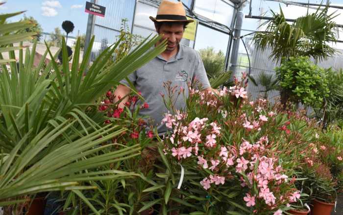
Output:
M239 11L237 13L237 18L236 18L236 25L235 25L235 35L234 35L234 41L233 41L233 46L232 46L232 54L231 54L231 66L230 66L230 71L232 71L231 78L233 76L236 76L237 72L237 62L238 62L238 52L240 48L240 36L241 36L241 28L243 25L243 19L244 19L244 14L243 14L243 7L239 8Z

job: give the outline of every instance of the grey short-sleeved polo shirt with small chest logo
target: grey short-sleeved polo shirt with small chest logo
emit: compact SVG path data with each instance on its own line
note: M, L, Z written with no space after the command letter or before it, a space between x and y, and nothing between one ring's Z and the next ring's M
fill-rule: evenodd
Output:
M161 125L161 120L168 112L161 96L161 94L167 96L167 91L163 87L164 82L172 81L172 86L177 86L176 92L182 87L186 98L190 81L199 81L203 89L210 87L200 54L182 44L179 46L178 53L168 61L159 55L130 74L128 79L134 83L138 91L142 92L145 102L149 105L149 108L140 110L140 114L149 116L153 120L153 125L157 126L159 134L167 131L167 128ZM121 83L128 85L125 80ZM174 102L176 109L186 108L182 94Z

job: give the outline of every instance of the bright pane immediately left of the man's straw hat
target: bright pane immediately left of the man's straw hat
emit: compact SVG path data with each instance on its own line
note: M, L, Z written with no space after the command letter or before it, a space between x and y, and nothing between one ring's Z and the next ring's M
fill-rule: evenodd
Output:
M136 6L136 16L135 16L135 25L144 26L155 29L154 23L149 19L149 16L156 16L157 8L147 5L145 3L137 2Z

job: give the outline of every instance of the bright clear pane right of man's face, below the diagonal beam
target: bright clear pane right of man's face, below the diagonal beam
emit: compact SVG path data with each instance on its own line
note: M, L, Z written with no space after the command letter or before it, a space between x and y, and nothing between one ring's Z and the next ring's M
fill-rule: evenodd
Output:
M221 51L226 54L228 42L229 35L203 25L198 25L196 31L196 50L213 47L216 52Z

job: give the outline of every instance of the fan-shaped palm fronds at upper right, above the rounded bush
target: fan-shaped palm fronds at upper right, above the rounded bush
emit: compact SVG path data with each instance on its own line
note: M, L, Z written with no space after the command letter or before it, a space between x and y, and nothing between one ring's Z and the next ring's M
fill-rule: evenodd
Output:
M287 60L291 56L311 56L315 59L326 59L336 53L330 43L336 42L338 28L333 19L335 13L327 14L328 7L307 13L294 23L286 22L283 11L271 11L273 19L265 22L264 32L254 35L254 43L258 49L271 48L270 58L275 61Z

